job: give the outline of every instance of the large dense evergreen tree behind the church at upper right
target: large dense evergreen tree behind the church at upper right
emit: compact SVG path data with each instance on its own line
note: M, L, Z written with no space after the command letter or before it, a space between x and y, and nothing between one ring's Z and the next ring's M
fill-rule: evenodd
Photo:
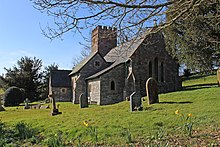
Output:
M178 15L167 11L167 19ZM218 66L220 59L220 3L201 1L189 13L165 29L167 50L190 69L207 71Z

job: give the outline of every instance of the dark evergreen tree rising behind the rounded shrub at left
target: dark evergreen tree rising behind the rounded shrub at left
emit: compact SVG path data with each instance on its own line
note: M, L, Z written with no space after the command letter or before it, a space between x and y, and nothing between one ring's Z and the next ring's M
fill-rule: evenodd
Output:
M4 81L9 86L16 86L24 90L24 98L37 100L41 94L42 86L42 61L36 57L22 57L17 61L17 66L4 68L6 70Z

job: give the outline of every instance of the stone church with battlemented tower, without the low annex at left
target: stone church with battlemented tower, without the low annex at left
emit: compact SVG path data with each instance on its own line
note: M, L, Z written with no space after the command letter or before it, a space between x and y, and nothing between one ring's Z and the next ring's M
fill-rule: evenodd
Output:
M149 30L151 31L151 30ZM178 64L165 50L162 33L146 33L117 45L117 30L98 26L92 31L92 52L69 74L73 103L80 97L107 105L146 96L146 81L153 77L159 93L180 90Z

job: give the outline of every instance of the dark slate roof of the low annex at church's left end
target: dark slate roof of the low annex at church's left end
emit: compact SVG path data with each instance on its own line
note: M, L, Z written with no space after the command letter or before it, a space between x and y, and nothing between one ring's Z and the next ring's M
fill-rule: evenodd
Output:
M71 87L69 77L71 70L52 70L50 72L52 87Z

